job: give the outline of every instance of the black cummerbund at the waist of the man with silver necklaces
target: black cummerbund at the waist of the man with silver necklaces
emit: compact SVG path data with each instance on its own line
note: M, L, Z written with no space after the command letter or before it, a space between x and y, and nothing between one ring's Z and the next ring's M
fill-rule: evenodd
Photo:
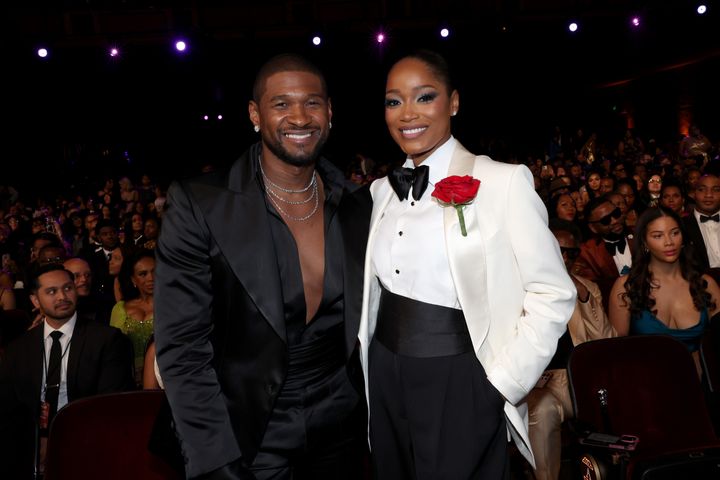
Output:
M339 323L321 337L289 348L284 388L295 390L325 380L345 364L345 328Z

